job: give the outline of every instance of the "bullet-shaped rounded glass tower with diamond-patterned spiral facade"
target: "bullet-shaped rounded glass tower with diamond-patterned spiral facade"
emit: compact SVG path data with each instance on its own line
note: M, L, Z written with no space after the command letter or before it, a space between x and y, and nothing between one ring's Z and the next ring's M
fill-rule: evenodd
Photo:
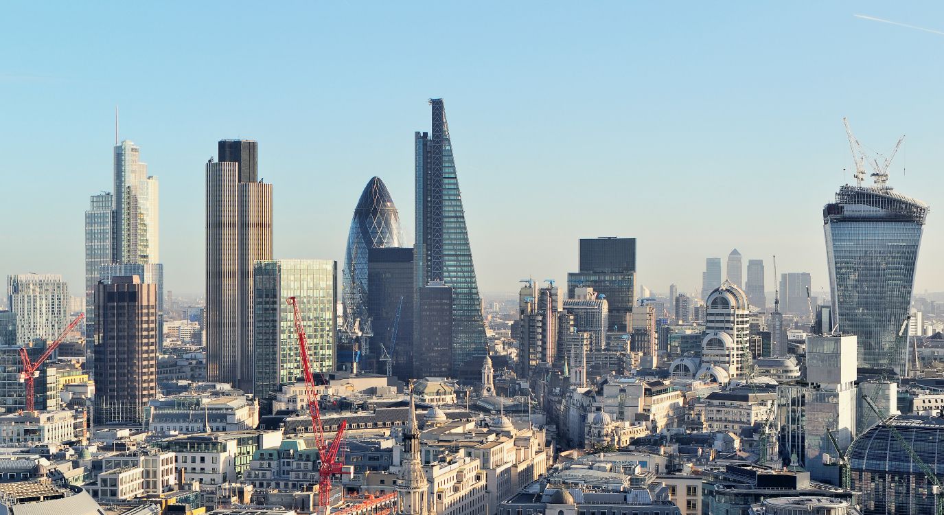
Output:
M344 296L345 314L368 318L367 255L370 249L400 247L400 216L393 197L379 177L371 178L363 187L354 208L345 250Z

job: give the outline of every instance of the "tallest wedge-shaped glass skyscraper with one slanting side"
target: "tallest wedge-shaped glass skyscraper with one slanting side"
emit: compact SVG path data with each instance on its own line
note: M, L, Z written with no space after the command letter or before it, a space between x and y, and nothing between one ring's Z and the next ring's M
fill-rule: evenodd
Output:
M442 282L452 290L452 374L467 365L478 377L485 356L479 283L465 227L462 193L441 98L430 100L430 133L416 132L416 289ZM416 296L422 302L422 296ZM417 305L416 312L422 311ZM420 318L414 318L419 323ZM420 335L419 331L415 332Z

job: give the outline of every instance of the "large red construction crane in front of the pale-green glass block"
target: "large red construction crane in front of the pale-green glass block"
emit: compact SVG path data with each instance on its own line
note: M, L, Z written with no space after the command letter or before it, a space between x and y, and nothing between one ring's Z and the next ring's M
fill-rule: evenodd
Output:
M343 420L338 424L338 431L329 444L325 439L325 428L321 423L318 395L314 388L314 376L312 376L312 367L308 359L308 337L301 325L298 301L295 300L295 297L289 297L285 302L291 305L295 311L295 334L298 335L298 353L301 357L301 368L305 372L305 394L307 395L308 412L312 417L314 443L318 448L318 460L321 462L318 466L318 514L329 515L331 511L329 502L331 476L344 473L344 457L341 456L339 460L339 451L341 450L341 441L345 435L347 421Z

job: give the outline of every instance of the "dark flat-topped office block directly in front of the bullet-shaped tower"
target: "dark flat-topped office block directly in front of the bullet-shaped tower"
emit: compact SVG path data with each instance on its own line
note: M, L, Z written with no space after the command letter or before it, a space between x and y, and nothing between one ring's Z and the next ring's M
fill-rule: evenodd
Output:
M391 372L400 381L423 375L413 370L413 293L412 248L368 250L367 311L374 329L371 352L380 356L381 347L386 350ZM386 373L386 362L379 365L379 372Z

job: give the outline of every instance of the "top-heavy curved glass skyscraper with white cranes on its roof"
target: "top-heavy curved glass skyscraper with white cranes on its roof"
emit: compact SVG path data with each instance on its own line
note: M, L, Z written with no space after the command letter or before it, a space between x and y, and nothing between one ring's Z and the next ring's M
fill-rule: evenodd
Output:
M886 187L846 185L823 208L833 311L858 336L860 366L903 373L915 264L928 206Z

